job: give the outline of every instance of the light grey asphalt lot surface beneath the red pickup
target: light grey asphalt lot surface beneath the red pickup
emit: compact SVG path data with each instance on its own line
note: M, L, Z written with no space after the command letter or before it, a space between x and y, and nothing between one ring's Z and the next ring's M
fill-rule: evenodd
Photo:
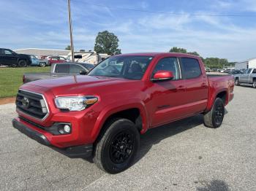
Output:
M12 128L0 106L0 190L256 190L256 90L236 87L223 125L201 115L149 130L127 171L110 175L69 159Z

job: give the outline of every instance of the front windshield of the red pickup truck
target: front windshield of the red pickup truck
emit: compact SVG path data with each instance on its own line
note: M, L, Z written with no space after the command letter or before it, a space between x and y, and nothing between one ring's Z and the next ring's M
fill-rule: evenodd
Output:
M113 56L95 66L88 75L141 79L152 59L151 56Z

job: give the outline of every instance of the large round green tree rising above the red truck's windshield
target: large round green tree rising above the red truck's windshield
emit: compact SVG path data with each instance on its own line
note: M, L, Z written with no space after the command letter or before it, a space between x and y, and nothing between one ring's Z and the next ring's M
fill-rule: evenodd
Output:
M121 54L121 50L118 49L118 37L108 31L99 32L94 45L94 51L97 53L107 53L108 55Z

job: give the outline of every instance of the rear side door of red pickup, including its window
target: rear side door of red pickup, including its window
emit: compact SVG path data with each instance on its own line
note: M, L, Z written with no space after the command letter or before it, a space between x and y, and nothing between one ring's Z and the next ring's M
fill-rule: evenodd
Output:
M208 78L196 58L180 58L182 78L186 88L187 116L203 112L208 103Z

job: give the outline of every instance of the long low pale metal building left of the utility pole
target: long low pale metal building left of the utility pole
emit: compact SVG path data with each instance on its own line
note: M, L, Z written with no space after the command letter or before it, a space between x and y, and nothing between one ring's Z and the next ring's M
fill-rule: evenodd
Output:
M53 49L38 49L38 48L26 48L26 49L14 50L14 51L20 54L36 55L38 58L45 55L66 56L70 52L70 50L53 50Z

